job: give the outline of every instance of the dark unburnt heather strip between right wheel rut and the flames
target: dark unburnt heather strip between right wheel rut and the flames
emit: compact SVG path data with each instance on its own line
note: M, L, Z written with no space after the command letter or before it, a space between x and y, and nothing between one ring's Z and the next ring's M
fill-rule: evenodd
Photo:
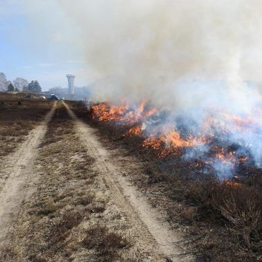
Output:
M144 165L129 172L133 182L149 194L154 207L165 207L167 219L187 236L192 252L204 261L260 261L262 259L262 174L248 168L241 187L221 183L212 173L192 169L179 156L159 160L144 149L142 138L127 137L129 127L95 122L83 104L71 104L77 116L100 131L104 142L126 150Z

